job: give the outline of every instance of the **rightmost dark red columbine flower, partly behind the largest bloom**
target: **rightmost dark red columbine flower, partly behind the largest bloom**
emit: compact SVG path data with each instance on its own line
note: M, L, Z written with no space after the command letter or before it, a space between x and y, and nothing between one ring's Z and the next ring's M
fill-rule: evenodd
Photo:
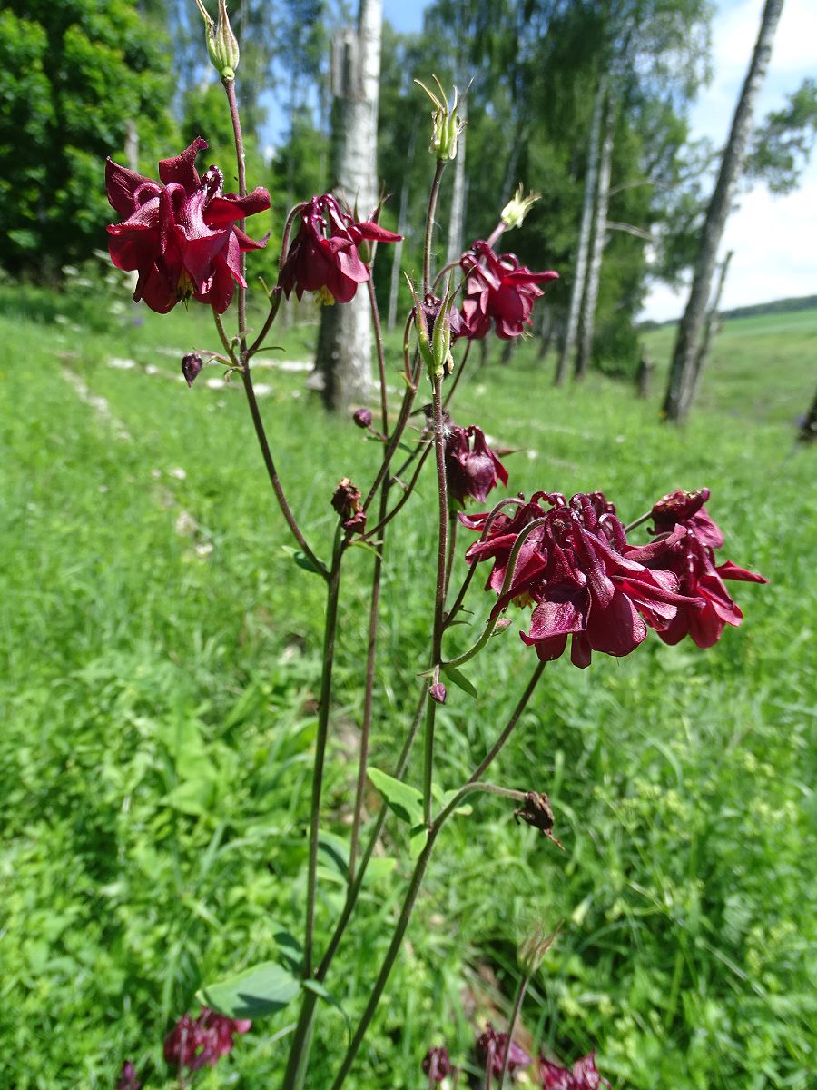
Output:
M655 534L682 532L680 540L661 555L661 567L675 574L682 594L704 602L703 609L679 606L670 623L658 633L664 643L675 644L688 635L698 647L711 647L721 638L725 625L736 628L743 620L723 580L768 583L768 579L739 568L731 560L716 565L715 549L723 544L723 534L703 506L707 499L708 488L694 493L673 492L653 508Z

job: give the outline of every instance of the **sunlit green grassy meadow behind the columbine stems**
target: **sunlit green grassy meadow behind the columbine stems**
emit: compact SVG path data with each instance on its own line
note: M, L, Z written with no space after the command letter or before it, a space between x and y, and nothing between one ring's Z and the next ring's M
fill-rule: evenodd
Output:
M314 336L276 331L284 351L260 359L307 361ZM162 1039L197 1012L197 989L301 934L324 589L282 548L240 384L208 386L217 367L193 390L180 380L183 352L215 347L204 308L111 313L101 291L4 286L0 338L0 1087L112 1090L124 1059L146 1088L170 1087ZM670 338L646 339L659 362L648 402L600 376L554 390L550 362L523 348L507 366L470 364L455 419L520 448L514 493L602 488L630 521L708 485L722 556L770 583L730 584L746 619L708 652L653 634L625 659L548 667L493 778L547 790L565 850L493 798L447 826L355 1090L419 1090L423 1055L443 1041L468 1068L476 1027L508 1017L531 919L563 924L524 1006L529 1051L596 1049L619 1090L817 1085L817 449L793 426L814 395L817 311L728 323L682 431L658 420ZM327 419L304 379L267 366L256 380L282 480L326 556L334 483L363 486L378 450ZM381 768L427 654L426 477L389 541ZM351 550L324 821L340 855L370 568ZM487 602L472 593L478 622ZM476 701L452 692L440 710L446 788L534 668L521 625L471 664ZM464 646L471 633L453 634ZM386 948L404 829L387 823L365 919L327 981L310 1090L330 1083ZM338 855L321 863L319 937L341 904ZM257 1021L195 1085L276 1087L293 1010Z

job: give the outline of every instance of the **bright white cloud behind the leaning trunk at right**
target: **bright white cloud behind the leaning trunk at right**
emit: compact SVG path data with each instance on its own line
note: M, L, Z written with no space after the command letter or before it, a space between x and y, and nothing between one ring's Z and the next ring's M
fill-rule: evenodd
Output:
M693 109L694 135L725 142L761 10L761 0L721 5L712 33L715 80ZM756 120L782 106L785 95L814 74L815 43L814 0L786 0ZM765 186L743 193L727 225L721 252L727 250L734 250L734 257L723 290L725 308L817 293L817 162L810 164L801 187L789 196L772 196ZM685 291L658 284L646 301L644 317L678 317L685 305Z

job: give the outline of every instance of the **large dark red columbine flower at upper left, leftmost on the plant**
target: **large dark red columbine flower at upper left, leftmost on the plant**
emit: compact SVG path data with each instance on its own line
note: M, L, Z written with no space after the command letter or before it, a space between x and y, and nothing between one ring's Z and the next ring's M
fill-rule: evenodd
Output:
M235 223L269 208L269 193L260 186L245 197L222 193L218 167L199 178L195 158L206 147L197 136L181 155L162 159L161 183L111 159L106 164L108 201L123 217L108 228L111 261L117 268L138 271L133 298L158 314L191 298L223 313L236 282L246 288L242 251L266 245L266 239L255 242Z

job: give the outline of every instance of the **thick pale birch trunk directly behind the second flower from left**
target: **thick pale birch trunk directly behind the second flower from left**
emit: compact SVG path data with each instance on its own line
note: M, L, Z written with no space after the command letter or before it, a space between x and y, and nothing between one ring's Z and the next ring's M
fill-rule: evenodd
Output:
M381 0L359 0L356 33L337 36L332 55L332 173L336 189L368 218L377 204L377 102ZM315 361L328 409L365 402L371 384L371 314L361 286L350 303L324 307Z

